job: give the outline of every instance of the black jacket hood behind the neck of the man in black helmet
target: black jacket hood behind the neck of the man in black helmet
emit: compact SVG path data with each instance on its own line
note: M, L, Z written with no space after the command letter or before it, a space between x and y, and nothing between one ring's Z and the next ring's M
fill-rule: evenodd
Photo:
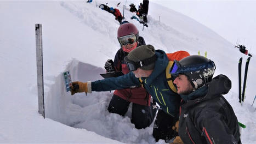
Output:
M221 94L227 94L231 89L231 80L225 75L218 75L208 85L198 88L189 95L180 95L186 101L185 107L198 104Z

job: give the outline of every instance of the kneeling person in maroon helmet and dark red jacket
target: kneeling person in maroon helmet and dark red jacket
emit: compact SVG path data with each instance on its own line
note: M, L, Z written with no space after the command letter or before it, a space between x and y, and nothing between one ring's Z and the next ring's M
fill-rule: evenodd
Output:
M143 37L139 36L138 29L132 23L121 25L117 31L117 38L121 49L117 51L114 61L112 59L107 60L105 69L107 72L122 71L123 74L128 74L130 71L124 61L124 57L136 47L145 45L145 41ZM113 93L107 110L124 116L127 113L129 104L133 103L131 121L135 124L135 128L142 129L149 127L156 114L157 108L152 109L150 101L151 95L143 87L118 89Z

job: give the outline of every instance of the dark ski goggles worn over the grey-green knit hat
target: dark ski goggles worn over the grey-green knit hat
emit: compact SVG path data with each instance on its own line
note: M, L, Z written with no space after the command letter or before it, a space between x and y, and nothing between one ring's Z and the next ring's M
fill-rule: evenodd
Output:
M124 61L126 61L126 64L130 71L137 70L138 68L145 67L147 65L150 65L156 61L156 55L153 55L150 58L144 59L143 61L139 62L133 62L128 59L128 57L124 57Z

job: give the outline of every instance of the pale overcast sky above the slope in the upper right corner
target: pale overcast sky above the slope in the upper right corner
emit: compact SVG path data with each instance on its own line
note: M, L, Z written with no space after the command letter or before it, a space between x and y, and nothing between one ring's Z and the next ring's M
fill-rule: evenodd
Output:
M256 55L256 1L151 0L211 28L232 44L243 44Z

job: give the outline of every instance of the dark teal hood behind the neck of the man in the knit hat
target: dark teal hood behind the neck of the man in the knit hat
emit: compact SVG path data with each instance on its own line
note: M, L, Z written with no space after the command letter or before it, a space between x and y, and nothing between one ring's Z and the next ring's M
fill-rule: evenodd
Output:
M147 79L146 83L149 85L151 85L151 83L155 81L160 74L163 72L165 73L166 67L169 63L169 59L164 51L156 50L156 56L157 60L152 74L149 77L141 77L143 80Z

